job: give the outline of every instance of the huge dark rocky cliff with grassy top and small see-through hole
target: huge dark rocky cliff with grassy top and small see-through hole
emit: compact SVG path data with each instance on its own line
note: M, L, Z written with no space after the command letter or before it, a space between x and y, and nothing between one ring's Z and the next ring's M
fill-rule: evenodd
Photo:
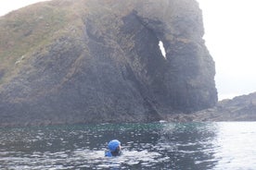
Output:
M0 25L1 125L155 121L217 102L195 0L54 0Z

